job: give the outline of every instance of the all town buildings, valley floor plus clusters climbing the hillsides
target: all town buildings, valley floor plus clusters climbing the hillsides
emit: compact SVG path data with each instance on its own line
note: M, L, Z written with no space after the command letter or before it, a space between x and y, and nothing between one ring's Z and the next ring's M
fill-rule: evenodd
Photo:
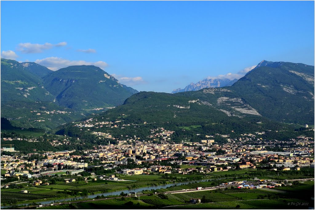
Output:
M113 122L100 122L94 119L87 119L74 126L100 128L123 129L134 124L122 124L121 120ZM120 124L119 124L120 123ZM95 145L94 149L80 151L80 154L71 154L74 151L29 153L24 156L1 157L1 169L6 170L6 176L30 176L32 174L42 174L65 170L71 168L78 170L88 167L89 163L95 160L103 166L115 168L119 165L127 165L129 161L138 164L138 168L125 169L119 173L123 174L150 174L150 173L215 173L230 169L255 169L258 165L270 166L273 170L299 170L301 167L314 167L314 160L309 158L314 153L314 141L312 138L299 136L287 141L266 141L260 136L264 131L255 134L242 134L238 138L230 138L229 135L215 134L205 135L200 142L187 140L182 143L172 142L174 131L165 128L150 130L151 134L146 140L142 140L136 135L125 135L121 139L116 139L117 144L111 144L112 134L100 131L86 131L95 136L108 140L106 145ZM200 135L200 134L196 134ZM218 144L215 136L226 138L227 143ZM17 138L15 138L17 139ZM12 141L12 138L3 138L4 141ZM23 140L23 139L17 139ZM107 141L106 140L106 141ZM27 141L37 141L31 139ZM61 139L47 140L53 146L71 144L67 137ZM157 143L158 142L158 143ZM272 149L272 151L268 151ZM281 152L277 152L281 150ZM14 147L1 148L1 151L14 152ZM220 152L218 152L220 151ZM40 155L40 160L28 161L31 155ZM143 163L150 163L151 167L143 168ZM186 169L167 165L195 165ZM198 166L198 167L196 167Z

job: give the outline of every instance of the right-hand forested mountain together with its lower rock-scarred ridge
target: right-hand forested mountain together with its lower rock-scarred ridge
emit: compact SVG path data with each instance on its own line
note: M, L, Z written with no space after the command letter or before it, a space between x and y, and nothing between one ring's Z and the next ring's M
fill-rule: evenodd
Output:
M175 94L140 92L101 117L210 123L250 117L314 124L314 66L262 61L230 87Z

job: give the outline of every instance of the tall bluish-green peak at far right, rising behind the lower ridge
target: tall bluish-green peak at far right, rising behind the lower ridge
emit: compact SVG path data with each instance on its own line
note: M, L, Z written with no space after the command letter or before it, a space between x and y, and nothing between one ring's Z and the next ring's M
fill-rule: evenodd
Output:
M314 124L314 66L262 61L231 91L269 119Z

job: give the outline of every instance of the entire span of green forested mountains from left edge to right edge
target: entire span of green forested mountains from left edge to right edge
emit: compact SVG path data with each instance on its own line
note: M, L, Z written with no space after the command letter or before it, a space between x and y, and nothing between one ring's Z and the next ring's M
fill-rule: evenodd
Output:
M314 124L314 66L263 60L232 86L169 94L138 92L95 66L51 71L1 59L1 116L13 126L52 129L90 114L130 123Z

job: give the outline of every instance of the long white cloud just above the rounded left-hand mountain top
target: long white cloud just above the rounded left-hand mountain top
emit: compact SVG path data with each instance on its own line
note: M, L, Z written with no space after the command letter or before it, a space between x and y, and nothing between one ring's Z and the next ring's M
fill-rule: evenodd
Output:
M104 61L97 61L97 62L88 62L88 61L71 61L63 58L58 57L49 57L44 59L37 59L35 63L46 66L48 69L56 71L61 68L65 68L68 66L76 66L76 65L94 65L98 66L101 69L104 69L108 64Z

